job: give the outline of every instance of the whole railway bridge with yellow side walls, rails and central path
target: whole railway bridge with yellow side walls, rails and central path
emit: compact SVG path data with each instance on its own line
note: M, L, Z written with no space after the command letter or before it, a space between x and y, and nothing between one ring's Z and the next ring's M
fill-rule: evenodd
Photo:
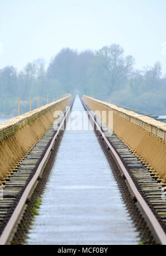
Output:
M166 244L166 124L71 95L0 125L0 244Z

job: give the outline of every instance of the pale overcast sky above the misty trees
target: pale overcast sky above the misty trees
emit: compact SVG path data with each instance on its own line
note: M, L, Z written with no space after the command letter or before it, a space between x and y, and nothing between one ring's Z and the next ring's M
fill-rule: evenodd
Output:
M165 0L0 0L0 68L118 43L136 67L160 61L166 73L164 42Z

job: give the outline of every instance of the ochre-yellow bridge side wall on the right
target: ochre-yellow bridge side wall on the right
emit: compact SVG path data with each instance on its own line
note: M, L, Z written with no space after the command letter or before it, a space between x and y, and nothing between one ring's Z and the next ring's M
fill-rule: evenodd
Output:
M113 111L113 131L166 184L166 124L107 102L83 96L94 111ZM108 115L107 115L108 116ZM108 125L108 120L103 120Z

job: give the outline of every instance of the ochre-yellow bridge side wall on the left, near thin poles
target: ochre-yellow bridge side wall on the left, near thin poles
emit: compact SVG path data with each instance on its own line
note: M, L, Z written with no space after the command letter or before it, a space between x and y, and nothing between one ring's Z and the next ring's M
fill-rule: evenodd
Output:
M65 97L0 124L0 186L53 124L54 112L63 111L71 99Z

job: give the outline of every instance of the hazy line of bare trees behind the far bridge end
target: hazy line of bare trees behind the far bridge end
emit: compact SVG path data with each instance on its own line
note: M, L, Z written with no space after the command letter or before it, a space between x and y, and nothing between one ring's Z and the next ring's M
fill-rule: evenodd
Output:
M13 66L0 70L0 116L17 115L17 99L20 97L21 114L46 104L46 96L77 93L131 107L152 114L166 114L166 77L156 62L143 70L134 68L132 56L125 56L120 45L105 46L98 51L78 52L64 48L52 58L48 67L40 58L28 63L18 72Z

